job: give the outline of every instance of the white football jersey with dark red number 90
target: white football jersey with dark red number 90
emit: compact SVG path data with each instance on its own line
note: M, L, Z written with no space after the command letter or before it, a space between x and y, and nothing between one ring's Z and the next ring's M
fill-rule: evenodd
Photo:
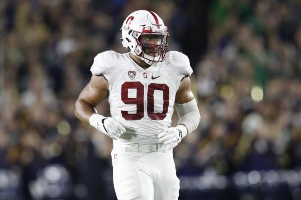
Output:
M111 116L126 129L114 145L155 144L158 134L171 126L180 81L192 69L188 57L177 51L147 69L128 53L105 51L94 58L91 72L107 79Z

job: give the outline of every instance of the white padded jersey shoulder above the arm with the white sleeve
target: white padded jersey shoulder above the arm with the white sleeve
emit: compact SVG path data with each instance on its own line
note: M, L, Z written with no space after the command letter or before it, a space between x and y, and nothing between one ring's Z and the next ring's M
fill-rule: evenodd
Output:
M190 66L189 58L178 51L170 51L169 52L169 62L175 67L179 67L178 73L180 75L188 75L192 74L192 68Z

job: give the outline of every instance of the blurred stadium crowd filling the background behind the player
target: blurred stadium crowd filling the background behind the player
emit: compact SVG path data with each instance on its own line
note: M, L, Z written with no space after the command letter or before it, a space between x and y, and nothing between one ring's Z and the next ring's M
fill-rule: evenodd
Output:
M112 142L74 105L137 9L194 69L202 119L174 150L179 200L300 200L300 0L1 0L0 200L116 200Z

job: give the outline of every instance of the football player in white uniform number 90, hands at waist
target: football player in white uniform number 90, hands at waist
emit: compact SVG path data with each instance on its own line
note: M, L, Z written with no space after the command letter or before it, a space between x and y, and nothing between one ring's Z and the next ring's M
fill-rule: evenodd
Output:
M138 10L122 25L129 53L105 51L94 58L90 82L75 115L113 139L112 164L118 200L177 200L172 149L200 122L190 90L186 55L167 50L169 33L154 12ZM111 117L95 112L105 98ZM171 127L174 106L179 115Z

